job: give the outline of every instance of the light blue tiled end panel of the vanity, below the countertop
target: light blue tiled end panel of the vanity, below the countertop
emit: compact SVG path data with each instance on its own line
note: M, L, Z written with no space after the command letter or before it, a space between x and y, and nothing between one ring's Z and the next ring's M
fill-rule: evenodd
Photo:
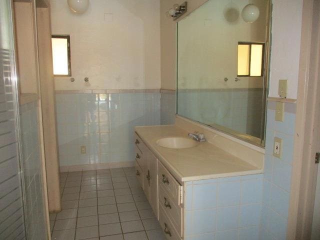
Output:
M258 240L263 174L184 182L185 240Z

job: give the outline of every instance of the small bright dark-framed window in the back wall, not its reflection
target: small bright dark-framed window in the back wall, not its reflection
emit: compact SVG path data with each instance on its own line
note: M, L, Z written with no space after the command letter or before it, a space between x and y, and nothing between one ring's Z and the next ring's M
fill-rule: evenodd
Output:
M70 76L69 36L52 36L53 74Z

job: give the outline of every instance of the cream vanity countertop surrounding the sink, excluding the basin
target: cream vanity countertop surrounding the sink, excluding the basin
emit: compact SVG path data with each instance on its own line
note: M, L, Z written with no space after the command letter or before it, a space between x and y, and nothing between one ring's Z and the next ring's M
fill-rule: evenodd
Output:
M180 183L263 172L207 141L182 149L157 145L156 141L163 137L187 137L188 132L176 125L136 126L135 132Z

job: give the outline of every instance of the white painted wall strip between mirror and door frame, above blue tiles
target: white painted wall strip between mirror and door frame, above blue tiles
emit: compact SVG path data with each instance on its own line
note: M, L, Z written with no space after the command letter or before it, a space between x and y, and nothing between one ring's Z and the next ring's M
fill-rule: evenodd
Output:
M278 80L288 79L287 98L296 99L302 0L273 0L269 96L278 97Z

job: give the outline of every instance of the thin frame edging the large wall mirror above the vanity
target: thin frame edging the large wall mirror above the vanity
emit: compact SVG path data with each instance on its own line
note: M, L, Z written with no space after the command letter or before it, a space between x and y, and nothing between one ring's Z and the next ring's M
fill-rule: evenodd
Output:
M175 54L175 115L179 116L179 117L183 117L185 119L188 119L190 121L196 122L198 124L201 124L203 126L206 127L210 127L216 131L222 132L224 134L227 134L229 136L235 137L237 139L240 139L242 141L245 141L247 143L253 144L255 146L261 147L261 148L265 148L265 131L266 131L266 111L267 111L267 94L268 94L268 89L269 89L269 76L270 76L270 56L271 56L271 28L272 28L272 5L273 5L273 0L268 0L269 2L267 3L267 14L266 14L266 22L268 22L268 24L266 25L266 29L265 29L265 34L266 34L266 41L264 42L264 77L265 80L263 81L263 92L262 92L262 108L264 108L264 112L261 116L261 138L249 135L249 134L245 134L245 133L241 133L241 132L237 132L235 130L232 130L230 128L227 127L214 127L212 125L207 125L204 124L200 121L196 121L194 119L188 118L186 116L183 115L179 115L178 114L178 69L177 69L177 65L178 65L178 22L182 19L184 19L184 17L187 17L191 12L193 12L194 10L196 10L197 8L201 7L202 4L197 7L192 9L192 11L187 12L183 17L175 20L175 39L176 39L176 54ZM207 2L207 1L205 1ZM204 2L204 3L205 3ZM203 4L204 4L203 3ZM245 137L243 137L243 135L245 135Z

